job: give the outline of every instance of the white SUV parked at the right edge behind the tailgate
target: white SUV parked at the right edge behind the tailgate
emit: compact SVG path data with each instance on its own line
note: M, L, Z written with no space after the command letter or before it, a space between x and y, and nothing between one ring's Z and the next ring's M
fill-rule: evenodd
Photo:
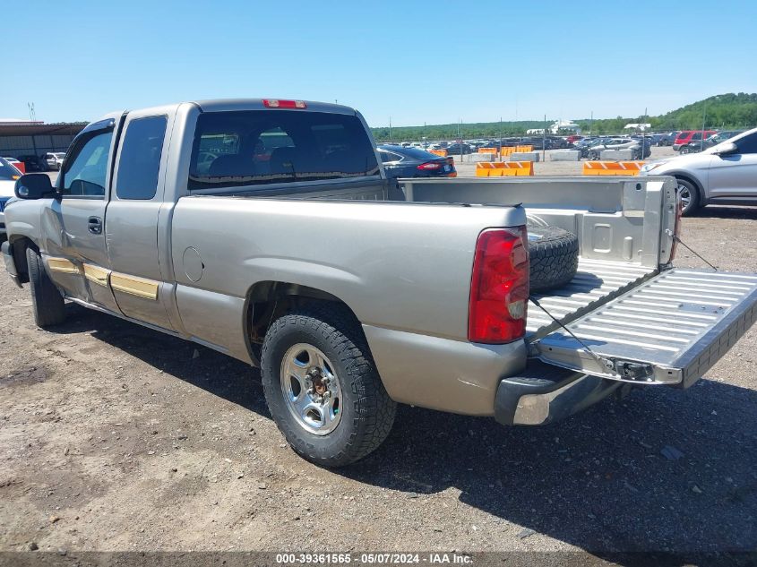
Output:
M684 215L709 204L757 205L757 128L701 153L650 162L641 175L674 176Z

